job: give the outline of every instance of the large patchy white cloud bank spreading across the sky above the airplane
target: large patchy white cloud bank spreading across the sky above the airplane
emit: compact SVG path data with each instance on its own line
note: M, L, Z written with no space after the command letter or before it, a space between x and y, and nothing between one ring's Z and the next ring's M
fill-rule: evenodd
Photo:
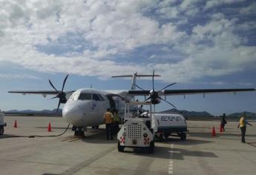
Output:
M206 6L224 3L232 1L211 1ZM255 46L244 45L243 37L234 32L237 28L251 30L254 22L237 25L238 19L217 12L206 23L192 27L191 33L180 29L179 24L188 24L188 29L193 26L189 22L200 12L197 5L200 1L1 1L0 4L0 60L36 71L107 78L156 70L165 82L186 82L242 71L256 60ZM151 10L156 12L154 16ZM163 22L160 16L178 20ZM142 62L134 59L129 62L130 58L125 57L148 46L160 47L159 53L149 54L151 57L142 58ZM175 53L163 59L165 55L161 52L169 50ZM119 60L119 55L126 60Z

